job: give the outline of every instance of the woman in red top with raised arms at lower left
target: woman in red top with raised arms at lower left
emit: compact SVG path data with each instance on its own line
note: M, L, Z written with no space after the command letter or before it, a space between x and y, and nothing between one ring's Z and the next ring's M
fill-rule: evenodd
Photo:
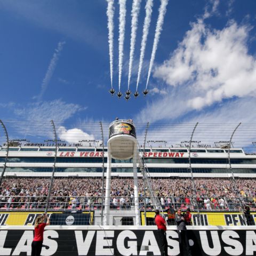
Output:
M40 256L44 240L44 228L50 225L47 214L39 215L35 222L35 236L31 244L31 256Z

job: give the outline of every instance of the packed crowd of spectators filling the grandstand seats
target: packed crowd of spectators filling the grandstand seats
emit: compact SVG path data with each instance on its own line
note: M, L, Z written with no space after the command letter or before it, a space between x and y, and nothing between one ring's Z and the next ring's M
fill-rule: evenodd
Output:
M255 179L223 178L152 178L144 189L138 180L139 203L150 209L154 197L162 207L173 205L201 210L233 210L239 205L256 206ZM0 190L0 207L6 209L43 209L50 178L6 178ZM112 178L110 203L113 209L130 209L134 202L133 178ZM101 178L55 178L51 191L50 209L98 209L102 204Z

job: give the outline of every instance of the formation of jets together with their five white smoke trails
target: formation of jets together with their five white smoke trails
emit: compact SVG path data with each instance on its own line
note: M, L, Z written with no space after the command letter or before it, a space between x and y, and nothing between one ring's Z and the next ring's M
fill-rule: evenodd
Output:
M127 18L127 10L130 8L130 5L126 3L132 2L132 8L131 8L131 17L130 15ZM161 2L160 5L154 7L155 2ZM150 23L151 23L151 17L153 14L154 10L158 10L158 17L155 24L155 36L154 36L154 41L153 41L153 46L152 46L152 51L151 51L151 56L150 56L150 61L149 61L149 67L148 67L148 74L147 74L147 82L146 82L146 87L145 90L142 92L144 96L148 94L148 84L149 84L149 78L151 75L151 71L154 65L154 60L156 56L156 51L159 43L159 38L161 35L161 31L163 28L163 23L164 23L164 17L165 13L167 10L167 4L169 0L161 0L161 1L154 1L154 0L132 0L132 1L127 1L127 0L119 0L118 1L118 7L117 7L117 1L115 0L107 0L107 27L108 27L108 43L109 43L109 67L110 67L110 82L111 82L111 89L110 93L113 96L115 94L115 90L113 88L113 74L114 74L114 41L115 38L117 39L117 36L115 37L114 34L114 27L115 27L115 20L114 19L114 14L115 10L119 10L119 25L118 25L118 92L116 93L117 97L121 99L122 97L122 92L121 92L121 84L122 84L122 73L123 73L123 59L124 59L124 41L125 41L125 26L126 21L128 20L130 22L131 19L131 37L130 37L130 54L129 54L129 71L128 71L128 76L127 76L127 91L124 93L124 98L126 101L129 101L132 97L132 92L130 91L130 84L131 84L131 77L133 72L133 60L135 56L135 42L137 38L137 29L140 27L140 22L139 22L139 16L145 15L144 21L143 21L143 28L142 28L142 37L141 37L141 43L140 43L140 56L139 58L139 65L138 65L138 72L137 72L137 84L136 84L136 89L134 90L135 93L134 98L136 99L139 96L138 92L138 86L140 83L141 79L141 73L142 73L142 67L143 67L143 61L145 58L145 53L146 53L146 46L147 46L147 41L148 41L148 35L149 35L149 29L150 29ZM141 5L144 5L143 8L141 8ZM154 7L154 8L153 8ZM154 9L154 10L153 10ZM141 10L141 11L140 11ZM130 12L130 10L129 10Z

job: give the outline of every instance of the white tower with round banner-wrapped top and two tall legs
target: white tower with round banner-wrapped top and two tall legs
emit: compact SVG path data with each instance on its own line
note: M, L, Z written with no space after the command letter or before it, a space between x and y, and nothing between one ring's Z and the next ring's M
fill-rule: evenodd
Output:
M139 226L140 211L137 175L137 160L139 159L139 152L135 126L131 119L117 119L109 125L104 225L109 225L111 158L121 160L133 159L134 207L136 225Z

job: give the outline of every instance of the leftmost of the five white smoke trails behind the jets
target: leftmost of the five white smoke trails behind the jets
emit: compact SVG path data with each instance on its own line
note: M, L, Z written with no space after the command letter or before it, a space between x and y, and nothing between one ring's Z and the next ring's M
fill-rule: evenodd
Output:
M114 48L114 0L107 0L107 17L108 17L108 43L109 43L109 62L110 62L110 81L113 88L113 48Z

